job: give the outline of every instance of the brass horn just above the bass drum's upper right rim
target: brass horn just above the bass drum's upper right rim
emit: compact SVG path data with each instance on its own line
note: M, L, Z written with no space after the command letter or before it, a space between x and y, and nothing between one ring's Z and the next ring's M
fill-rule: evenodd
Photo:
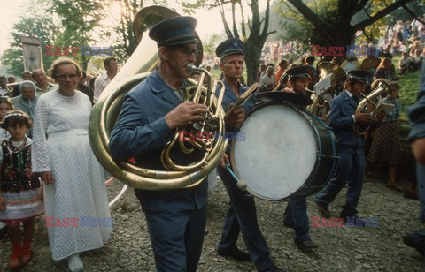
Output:
M326 120L330 111L330 104L323 96L336 87L337 82L344 82L347 79L347 74L339 65L329 62L321 62L317 65L317 71L321 75L319 82L330 77L330 87L321 91L321 94L312 94L313 103L308 106L307 110L316 117Z

